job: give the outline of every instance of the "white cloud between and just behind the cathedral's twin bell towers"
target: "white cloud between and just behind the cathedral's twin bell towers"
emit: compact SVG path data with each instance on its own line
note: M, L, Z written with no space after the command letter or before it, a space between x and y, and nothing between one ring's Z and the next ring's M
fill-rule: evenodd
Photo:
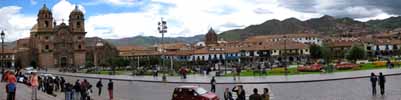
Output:
M68 24L68 19L72 10L75 9L75 5L71 4L67 0L60 0L57 4L55 4L52 8L53 18L57 23L61 23L64 19L64 22ZM80 9L85 14L85 9L82 5L78 5L78 9Z

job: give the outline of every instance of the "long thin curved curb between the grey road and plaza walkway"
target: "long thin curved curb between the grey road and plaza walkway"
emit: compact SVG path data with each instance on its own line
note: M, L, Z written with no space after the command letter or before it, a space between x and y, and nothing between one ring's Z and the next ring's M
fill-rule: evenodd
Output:
M92 76L80 76L80 75L67 75L67 74L57 74L49 73L58 76L68 76L68 77L80 77L80 78L91 78L100 79L99 77ZM401 73L386 74L384 76L397 76ZM330 79L317 79L317 80L301 80L301 81L266 81L266 82L218 82L217 84L283 84L283 83L310 83L310 82L324 82L324 81L336 81L336 80L349 80L349 79L359 79L359 78L369 78L370 76L355 76L355 77L345 77L345 78L330 78ZM159 81L159 80L135 80L135 79L121 79L121 78L101 78L101 79L112 79L117 81L136 81L136 82L150 82L150 83L170 83L170 84L210 84L209 82L174 82L174 81Z

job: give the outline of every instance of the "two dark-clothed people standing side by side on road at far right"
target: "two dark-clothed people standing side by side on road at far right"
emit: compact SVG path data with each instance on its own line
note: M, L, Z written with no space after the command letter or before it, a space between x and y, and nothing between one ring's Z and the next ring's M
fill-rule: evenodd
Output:
M376 84L377 83L379 83L380 94L384 95L386 78L384 77L382 72L379 73L379 76L377 76L375 73L372 72L370 74L370 82L372 83L372 94L373 95L376 95Z

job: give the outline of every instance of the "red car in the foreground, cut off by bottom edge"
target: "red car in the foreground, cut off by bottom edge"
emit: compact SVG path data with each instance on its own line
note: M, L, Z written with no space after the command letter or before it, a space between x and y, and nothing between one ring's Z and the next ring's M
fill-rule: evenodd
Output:
M179 86L174 89L172 100L219 100L219 98L199 86Z

